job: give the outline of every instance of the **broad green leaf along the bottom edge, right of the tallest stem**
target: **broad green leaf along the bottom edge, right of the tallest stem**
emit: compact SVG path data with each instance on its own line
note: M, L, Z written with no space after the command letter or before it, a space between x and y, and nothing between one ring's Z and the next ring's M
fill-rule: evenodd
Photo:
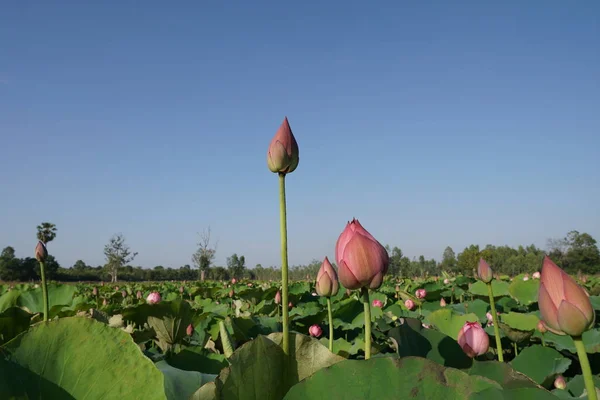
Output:
M288 392L285 400L468 399L500 386L419 357L346 360L315 373Z

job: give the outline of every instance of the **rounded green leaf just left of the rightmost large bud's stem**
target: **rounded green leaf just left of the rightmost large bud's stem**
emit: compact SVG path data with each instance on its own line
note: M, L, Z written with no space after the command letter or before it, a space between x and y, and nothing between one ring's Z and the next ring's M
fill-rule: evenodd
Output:
M533 345L521 350L511 361L511 365L536 383L545 386L555 375L565 372L571 365L571 360L550 347Z

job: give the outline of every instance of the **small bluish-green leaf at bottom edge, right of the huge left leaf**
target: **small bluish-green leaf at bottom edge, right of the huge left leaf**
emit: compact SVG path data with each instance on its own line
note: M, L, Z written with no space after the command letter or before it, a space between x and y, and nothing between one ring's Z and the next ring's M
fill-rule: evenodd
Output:
M213 382L217 377L217 375L177 369L166 361L157 362L156 367L165 377L165 393L168 400L187 399L202 385Z

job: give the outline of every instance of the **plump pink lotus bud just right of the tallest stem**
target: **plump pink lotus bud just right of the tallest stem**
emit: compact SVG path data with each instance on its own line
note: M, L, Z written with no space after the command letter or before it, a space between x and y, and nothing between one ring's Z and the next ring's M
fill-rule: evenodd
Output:
M378 289L390 262L385 248L357 219L348 222L335 246L340 282L347 289Z

